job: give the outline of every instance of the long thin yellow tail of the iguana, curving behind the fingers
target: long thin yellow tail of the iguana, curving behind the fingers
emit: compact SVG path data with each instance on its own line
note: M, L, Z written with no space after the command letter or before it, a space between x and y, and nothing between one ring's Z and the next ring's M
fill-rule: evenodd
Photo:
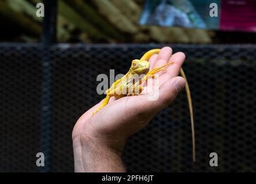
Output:
M151 49L150 51L147 51L146 53L144 53L144 55L140 58L140 60L148 61L153 54L159 53L160 50L161 49L158 49L158 48ZM182 68L180 68L180 75L185 79L185 91L187 93L188 107L190 109L191 132L192 132L192 156L193 156L193 162L195 162L195 128L194 128L194 116L193 116L193 106L192 106L192 99L190 94L190 87L188 86L188 81Z

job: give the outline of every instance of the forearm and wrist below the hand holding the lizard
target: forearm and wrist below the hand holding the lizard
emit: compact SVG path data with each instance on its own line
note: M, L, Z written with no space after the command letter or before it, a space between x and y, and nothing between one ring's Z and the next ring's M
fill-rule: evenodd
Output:
M73 139L75 172L125 172L121 152L92 139Z

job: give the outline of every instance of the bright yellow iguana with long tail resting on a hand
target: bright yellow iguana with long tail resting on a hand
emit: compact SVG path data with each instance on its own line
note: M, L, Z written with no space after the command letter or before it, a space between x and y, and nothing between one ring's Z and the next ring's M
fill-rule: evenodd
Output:
M170 64L173 64L174 62L169 62L161 67L153 68L151 71L149 71L150 63L148 62L148 60L152 55L159 53L160 50L161 49L151 49L150 51L144 53L144 55L140 59L132 60L131 67L129 68L127 74L125 74L122 78L114 82L112 86L106 90L106 98L103 100L101 106L99 106L99 108L92 114L92 116L108 104L110 97L116 97L117 99L119 99L129 95L139 95L143 91L143 87L140 85L144 81L147 81L149 77L154 78L154 74L159 71L166 71L165 67L169 66ZM142 74L144 74L143 78L139 79L139 77ZM180 75L185 79L185 90L187 93L188 106L190 109L192 130L192 157L193 161L195 162L195 131L192 99L187 78L182 68L180 68Z

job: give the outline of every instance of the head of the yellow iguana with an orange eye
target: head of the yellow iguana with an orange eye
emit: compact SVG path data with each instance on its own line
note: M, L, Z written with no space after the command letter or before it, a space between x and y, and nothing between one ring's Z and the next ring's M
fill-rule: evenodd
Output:
M147 74L149 72L149 62L146 60L135 59L132 60L131 68L129 69L131 74Z

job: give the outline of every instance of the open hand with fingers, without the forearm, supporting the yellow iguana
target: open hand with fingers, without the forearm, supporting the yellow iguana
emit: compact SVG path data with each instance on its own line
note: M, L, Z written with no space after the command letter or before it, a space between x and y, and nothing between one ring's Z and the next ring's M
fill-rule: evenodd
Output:
M110 147L121 149L127 137L143 128L160 110L168 106L183 89L185 81L179 75L185 55L177 52L172 55L170 47L161 49L158 55L150 57L150 69L174 62L159 75L159 97L149 101L150 90L144 88L142 94L116 99L110 98L109 104L92 113L101 105L95 105L84 113L73 129L72 138L86 136L105 141ZM149 79L150 80L150 79Z

